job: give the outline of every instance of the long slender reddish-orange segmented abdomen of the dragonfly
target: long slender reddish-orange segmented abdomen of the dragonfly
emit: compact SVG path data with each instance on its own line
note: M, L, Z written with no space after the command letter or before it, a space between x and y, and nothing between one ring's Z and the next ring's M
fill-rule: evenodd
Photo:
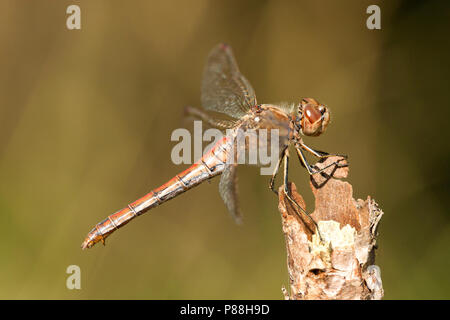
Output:
M98 223L87 235L82 248L90 248L99 241L104 243L106 237L137 216L199 185L203 181L221 174L229 154L228 141L229 138L224 137L191 167Z

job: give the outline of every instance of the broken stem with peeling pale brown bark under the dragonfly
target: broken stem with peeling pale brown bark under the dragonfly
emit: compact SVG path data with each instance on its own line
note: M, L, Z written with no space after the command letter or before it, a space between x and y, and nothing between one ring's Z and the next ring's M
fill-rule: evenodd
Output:
M318 163L324 167L339 158ZM353 199L353 188L345 181L348 167L330 167L311 177L317 222L314 223L279 189L279 210L285 235L290 294L286 299L381 299L380 268L375 265L377 226L383 215L370 197ZM306 208L293 183L292 198ZM308 211L308 210L307 210ZM300 214L300 217L297 213ZM310 212L310 211L308 211Z

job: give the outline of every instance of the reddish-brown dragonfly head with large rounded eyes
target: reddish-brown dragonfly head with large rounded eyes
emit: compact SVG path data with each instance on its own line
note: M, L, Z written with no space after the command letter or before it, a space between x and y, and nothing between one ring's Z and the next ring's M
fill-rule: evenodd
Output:
M330 122L330 111L312 98L304 98L298 106L296 125L299 131L306 136L322 134Z

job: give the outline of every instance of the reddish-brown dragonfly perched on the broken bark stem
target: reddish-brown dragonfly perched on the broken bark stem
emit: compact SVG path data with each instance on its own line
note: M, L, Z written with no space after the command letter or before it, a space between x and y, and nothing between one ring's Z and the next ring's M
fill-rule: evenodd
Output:
M204 110L187 107L188 114L215 128L229 129L229 134L216 142L188 169L96 224L82 243L83 249L91 248L98 242L105 244L108 236L134 218L218 175L221 175L219 194L235 221L241 223L242 214L237 195L237 164L228 161L235 156L233 147L239 130L277 130L279 139L276 147L279 148L279 159L269 181L269 188L278 194L275 179L284 163L282 190L287 199L303 213L306 211L292 199L288 188L289 146L294 146L300 163L310 175L320 173L333 165L342 166L338 160L318 169L310 165L305 157L305 152L319 160L339 156L314 150L302 139L302 136L316 137L325 132L330 122L328 107L313 98L303 98L298 104L258 104L254 89L239 71L233 51L227 44L217 45L208 56L202 80L201 103ZM226 115L231 120L212 116L212 113ZM314 225L318 231L315 222Z

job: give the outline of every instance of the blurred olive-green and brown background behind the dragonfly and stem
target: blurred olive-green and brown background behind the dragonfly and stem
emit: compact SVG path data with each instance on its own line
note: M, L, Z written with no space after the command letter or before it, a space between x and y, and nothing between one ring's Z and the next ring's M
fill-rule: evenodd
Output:
M81 7L82 29L66 28ZM381 30L366 28L367 6ZM444 1L0 2L0 298L281 299L277 201L242 167L244 225L218 179L82 251L108 214L187 166L171 132L200 106L209 50L234 49L260 103L314 97L332 111L319 150L350 157L355 198L384 210L387 299L450 298L450 105ZM313 208L306 171L291 180ZM81 290L66 268L81 268Z

